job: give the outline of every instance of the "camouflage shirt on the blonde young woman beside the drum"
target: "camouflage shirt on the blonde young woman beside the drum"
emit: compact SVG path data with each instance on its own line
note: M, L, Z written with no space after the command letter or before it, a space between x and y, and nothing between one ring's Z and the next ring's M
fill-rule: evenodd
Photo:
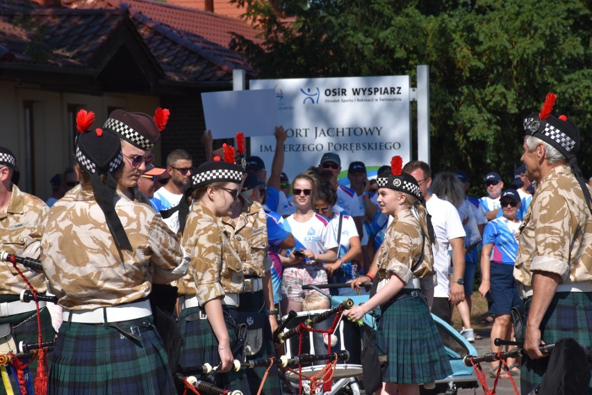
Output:
M425 245L424 245L425 244ZM423 249L423 261L411 273L419 261ZM393 223L386 229L378 257L378 274L381 279L397 275L405 284L411 277L426 278L431 274L434 259L431 255L429 238L423 237L418 218L411 210L395 215Z

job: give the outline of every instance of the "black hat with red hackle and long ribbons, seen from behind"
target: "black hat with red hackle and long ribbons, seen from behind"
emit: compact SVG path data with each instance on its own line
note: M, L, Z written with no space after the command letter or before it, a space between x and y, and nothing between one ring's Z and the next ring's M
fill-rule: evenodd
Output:
M76 136L76 163L90 175L90 185L115 243L120 248L131 250L127 234L115 211L117 181L113 173L123 165L120 138L108 129L88 131L92 122L94 113L80 110L76 114L76 129L80 132ZM101 175L106 176L105 182Z

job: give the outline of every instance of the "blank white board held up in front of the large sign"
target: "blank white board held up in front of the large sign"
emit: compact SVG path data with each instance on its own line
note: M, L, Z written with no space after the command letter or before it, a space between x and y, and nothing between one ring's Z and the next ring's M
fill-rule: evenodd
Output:
M227 90L202 93L206 129L213 138L273 136L279 124L275 90Z

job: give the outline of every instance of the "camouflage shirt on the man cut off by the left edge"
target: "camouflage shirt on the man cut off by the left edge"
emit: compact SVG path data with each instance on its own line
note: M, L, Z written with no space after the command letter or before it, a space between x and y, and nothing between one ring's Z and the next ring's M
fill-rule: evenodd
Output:
M13 185L13 193L6 211L0 213L0 250L6 250L9 254L24 255L25 248L31 239L28 235L39 225L44 213L49 207L36 196L24 193L16 185ZM19 295L23 289L28 289L22 277L8 262L0 262L0 294ZM45 292L47 285L43 273L31 271L17 264L17 267L25 275L27 280L38 292Z

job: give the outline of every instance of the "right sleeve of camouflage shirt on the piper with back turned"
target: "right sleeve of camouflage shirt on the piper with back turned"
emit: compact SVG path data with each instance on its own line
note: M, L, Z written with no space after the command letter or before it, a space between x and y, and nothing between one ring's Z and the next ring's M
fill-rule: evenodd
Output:
M154 216L151 220L148 244L155 276L173 281L186 275L189 257L161 216Z

